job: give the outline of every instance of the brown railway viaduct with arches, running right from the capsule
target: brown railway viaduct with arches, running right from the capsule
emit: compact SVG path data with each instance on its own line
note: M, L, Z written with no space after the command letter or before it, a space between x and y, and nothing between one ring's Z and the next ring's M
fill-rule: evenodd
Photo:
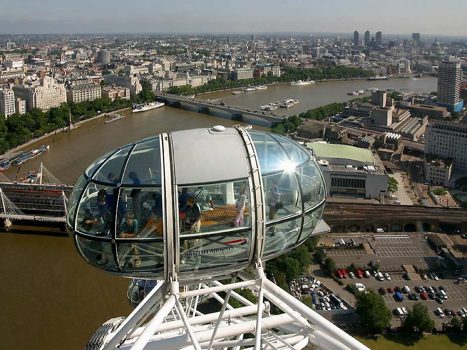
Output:
M331 232L437 232L440 224L467 228L467 210L421 206L326 203Z

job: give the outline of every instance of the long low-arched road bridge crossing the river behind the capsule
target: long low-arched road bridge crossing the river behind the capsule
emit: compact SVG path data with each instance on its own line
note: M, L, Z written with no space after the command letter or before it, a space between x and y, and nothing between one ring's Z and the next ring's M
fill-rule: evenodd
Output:
M264 121L269 122L271 127L281 123L284 118L288 116L282 115L275 112L251 110L248 108L232 105L221 105L220 102L200 100L196 97L187 97L172 95L163 92L155 91L157 99L162 100L168 106L182 107L182 105L189 105L198 108L199 113L209 114L210 111L218 110L220 112L228 113L232 116L233 120L241 120L243 116L254 117L248 120L248 123L255 124L255 120L261 121L261 126L264 125Z

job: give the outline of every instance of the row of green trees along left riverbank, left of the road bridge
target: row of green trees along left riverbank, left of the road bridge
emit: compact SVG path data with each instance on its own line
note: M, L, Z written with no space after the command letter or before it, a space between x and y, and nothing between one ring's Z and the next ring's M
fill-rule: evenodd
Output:
M103 97L93 101L62 103L60 107L51 108L47 112L34 108L21 116L15 113L5 118L0 114L0 153L60 128L68 127L70 114L72 123L77 123L99 113L128 108L133 103L154 100L154 93L144 88L131 100L117 97L112 101L110 98Z

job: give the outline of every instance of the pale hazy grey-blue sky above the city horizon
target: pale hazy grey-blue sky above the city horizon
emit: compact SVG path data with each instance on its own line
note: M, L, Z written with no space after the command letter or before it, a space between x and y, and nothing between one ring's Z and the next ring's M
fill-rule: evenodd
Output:
M467 35L467 0L0 0L0 33Z

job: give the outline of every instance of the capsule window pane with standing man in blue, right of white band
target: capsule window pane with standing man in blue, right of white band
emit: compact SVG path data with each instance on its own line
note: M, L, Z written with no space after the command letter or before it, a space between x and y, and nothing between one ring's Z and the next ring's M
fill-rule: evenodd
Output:
M302 197L295 171L263 176L266 223L302 213Z

